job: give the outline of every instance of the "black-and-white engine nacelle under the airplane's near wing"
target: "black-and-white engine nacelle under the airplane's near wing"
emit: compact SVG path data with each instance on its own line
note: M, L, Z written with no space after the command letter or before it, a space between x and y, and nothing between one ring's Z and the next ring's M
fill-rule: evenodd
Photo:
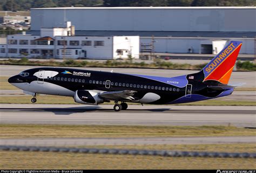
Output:
M77 90L74 100L76 103L98 105L103 103L103 99L99 98L99 93L93 91Z

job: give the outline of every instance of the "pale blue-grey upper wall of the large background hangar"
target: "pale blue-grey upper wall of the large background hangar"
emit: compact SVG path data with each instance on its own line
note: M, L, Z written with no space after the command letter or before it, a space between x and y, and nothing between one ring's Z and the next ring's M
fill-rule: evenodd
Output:
M31 9L31 30L255 32L256 7L134 7Z

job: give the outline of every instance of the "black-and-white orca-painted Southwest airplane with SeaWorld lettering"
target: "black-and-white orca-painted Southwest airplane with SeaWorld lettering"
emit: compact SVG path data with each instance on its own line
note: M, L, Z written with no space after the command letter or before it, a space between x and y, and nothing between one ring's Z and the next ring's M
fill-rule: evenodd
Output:
M242 42L231 41L198 73L177 77L121 74L71 68L24 70L8 82L37 101L37 93L73 97L76 103L98 105L114 101L114 111L127 103L180 104L231 95L228 85ZM119 104L120 102L120 104Z

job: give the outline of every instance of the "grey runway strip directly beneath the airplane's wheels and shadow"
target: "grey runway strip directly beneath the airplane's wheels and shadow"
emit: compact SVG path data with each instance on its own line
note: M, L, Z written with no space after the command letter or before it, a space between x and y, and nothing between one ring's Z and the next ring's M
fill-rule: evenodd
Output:
M1 124L70 125L232 125L256 127L254 106L1 104Z

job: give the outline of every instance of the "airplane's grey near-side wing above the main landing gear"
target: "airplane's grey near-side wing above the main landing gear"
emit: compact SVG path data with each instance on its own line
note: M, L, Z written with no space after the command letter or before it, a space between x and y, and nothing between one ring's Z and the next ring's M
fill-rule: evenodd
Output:
M99 96L107 100L134 100L132 97L137 91L124 90L124 91L111 91L99 93Z

